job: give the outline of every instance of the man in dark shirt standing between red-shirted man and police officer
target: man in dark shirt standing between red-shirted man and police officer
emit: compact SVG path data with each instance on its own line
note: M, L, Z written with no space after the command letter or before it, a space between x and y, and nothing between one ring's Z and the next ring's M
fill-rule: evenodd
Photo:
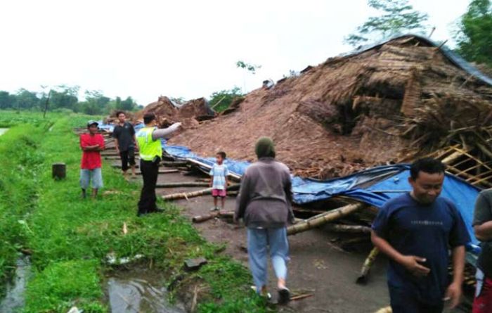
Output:
M112 131L115 139L116 152L122 158L122 171L127 178L128 164L131 167L131 176L135 177L135 129L132 124L127 122L127 116L123 111L116 113L118 124Z

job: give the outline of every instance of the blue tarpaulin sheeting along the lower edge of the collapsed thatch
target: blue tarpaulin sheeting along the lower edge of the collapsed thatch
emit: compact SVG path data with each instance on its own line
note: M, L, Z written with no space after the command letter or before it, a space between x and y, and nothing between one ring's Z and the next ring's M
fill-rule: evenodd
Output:
M215 158L200 158L189 148L183 146L164 145L163 148L166 153L175 158L197 160L208 167L212 167L215 162ZM226 159L225 164L231 172L238 176L242 176L249 165L248 162L231 159ZM387 200L411 190L408 177L410 177L409 165L374 167L347 177L326 181L292 177L292 192L294 203L297 204L313 203L333 196L349 196L379 208ZM472 243L467 248L474 253L479 252L479 241L475 238L472 228L474 203L479 192L480 189L477 187L451 174L446 174L441 192L441 196L455 203L465 220L468 233L472 238Z

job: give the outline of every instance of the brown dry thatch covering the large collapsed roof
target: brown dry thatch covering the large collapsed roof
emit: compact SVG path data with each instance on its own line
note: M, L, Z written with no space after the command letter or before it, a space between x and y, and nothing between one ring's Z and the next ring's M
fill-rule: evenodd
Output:
M437 47L403 36L252 91L237 110L188 128L170 143L201 155L224 150L254 160L254 142L271 136L278 159L294 174L338 177L463 136L472 145L470 132L485 145L491 99L491 86Z

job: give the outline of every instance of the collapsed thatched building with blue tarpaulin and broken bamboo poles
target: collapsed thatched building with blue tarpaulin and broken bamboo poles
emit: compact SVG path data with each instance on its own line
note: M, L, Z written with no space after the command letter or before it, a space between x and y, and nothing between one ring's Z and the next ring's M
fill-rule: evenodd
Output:
M271 136L278 160L296 176L294 212L316 215L290 226L288 234L330 222L330 229L361 231L368 241L377 207L410 189L408 166L392 165L423 155L441 159L449 172L443 195L455 202L472 236L465 286L473 290L479 241L470 204L479 188L492 187L492 79L442 44L403 35L329 58L298 76L264 84L219 115L202 98L178 108L160 97L137 118L147 112L164 127L183 122L165 153L184 160L174 163L188 170L208 172L214 160L207 157L220 150L231 160L253 161L255 141ZM230 162L240 179L247 163ZM377 253L373 248L358 281L365 281Z

